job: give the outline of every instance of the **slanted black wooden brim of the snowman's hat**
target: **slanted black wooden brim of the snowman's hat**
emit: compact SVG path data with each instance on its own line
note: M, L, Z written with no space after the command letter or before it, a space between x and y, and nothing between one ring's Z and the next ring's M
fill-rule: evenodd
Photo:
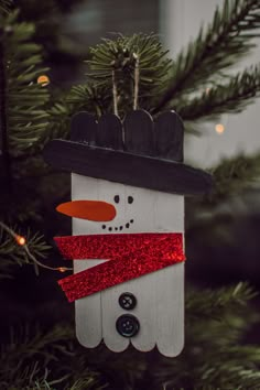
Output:
M43 155L55 169L171 194L205 194L213 184L210 174L183 163L78 142L53 140Z

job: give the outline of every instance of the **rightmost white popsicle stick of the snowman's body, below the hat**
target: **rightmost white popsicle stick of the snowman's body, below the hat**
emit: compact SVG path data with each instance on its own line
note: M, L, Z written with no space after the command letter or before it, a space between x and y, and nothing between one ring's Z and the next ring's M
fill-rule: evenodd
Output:
M184 197L160 194L154 212L156 231L183 232ZM161 354L177 356L184 346L184 263L156 272L156 345Z

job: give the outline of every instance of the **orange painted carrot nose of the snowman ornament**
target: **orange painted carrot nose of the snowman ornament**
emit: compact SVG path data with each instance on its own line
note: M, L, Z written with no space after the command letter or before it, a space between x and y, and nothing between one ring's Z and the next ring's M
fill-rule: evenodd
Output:
M96 221L112 220L116 217L113 205L101 201L72 201L62 203L56 207L58 213L74 218L83 218Z

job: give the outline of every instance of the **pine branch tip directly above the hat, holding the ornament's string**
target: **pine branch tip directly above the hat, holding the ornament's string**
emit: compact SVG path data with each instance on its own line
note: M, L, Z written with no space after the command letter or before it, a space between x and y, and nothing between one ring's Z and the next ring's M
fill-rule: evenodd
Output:
M97 117L112 111L112 71L116 72L120 115L132 110L137 56L140 107L150 110L151 97L163 85L171 64L171 59L165 59L166 52L154 35L120 35L115 41L104 40L104 43L90 48L90 54L91 59L87 62L90 67L87 85L73 87L63 101L48 109L50 138L66 138L69 119L79 110L87 110Z

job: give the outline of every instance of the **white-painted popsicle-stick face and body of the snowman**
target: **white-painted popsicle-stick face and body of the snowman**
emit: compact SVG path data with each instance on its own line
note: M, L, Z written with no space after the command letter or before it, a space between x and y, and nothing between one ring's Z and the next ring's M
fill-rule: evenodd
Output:
M116 195L119 195L119 203L115 203ZM133 197L132 204L128 203L129 196ZM183 196L73 175L73 199L105 201L117 209L116 218L109 223L74 218L75 235L184 232ZM106 225L105 229L102 225ZM75 272L93 266L93 260L75 261ZM79 342L94 347L104 338L113 351L124 350L129 343L142 351L158 345L163 355L176 356L184 339L183 284L184 264L176 264L76 301ZM131 292L137 297L138 304L131 311L121 308L118 303L123 292ZM131 340L116 329L117 318L122 314L132 314L140 322L140 332Z

